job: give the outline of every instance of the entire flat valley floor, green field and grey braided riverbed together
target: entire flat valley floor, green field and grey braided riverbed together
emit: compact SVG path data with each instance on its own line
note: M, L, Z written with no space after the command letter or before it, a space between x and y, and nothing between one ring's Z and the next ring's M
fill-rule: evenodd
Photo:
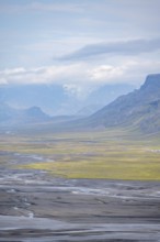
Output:
M0 241L160 241L160 139L0 135Z

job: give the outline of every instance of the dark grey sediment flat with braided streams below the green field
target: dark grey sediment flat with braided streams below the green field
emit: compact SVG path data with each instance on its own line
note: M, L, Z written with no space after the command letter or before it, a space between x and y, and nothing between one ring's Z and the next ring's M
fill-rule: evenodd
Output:
M160 183L12 172L0 183L0 241L158 242Z

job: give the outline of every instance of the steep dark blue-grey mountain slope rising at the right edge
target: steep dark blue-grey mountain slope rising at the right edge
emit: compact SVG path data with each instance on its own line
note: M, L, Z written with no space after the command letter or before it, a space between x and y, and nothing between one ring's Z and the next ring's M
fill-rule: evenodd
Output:
M88 125L132 125L144 132L160 131L160 74L149 75L140 89L121 96L92 114Z

